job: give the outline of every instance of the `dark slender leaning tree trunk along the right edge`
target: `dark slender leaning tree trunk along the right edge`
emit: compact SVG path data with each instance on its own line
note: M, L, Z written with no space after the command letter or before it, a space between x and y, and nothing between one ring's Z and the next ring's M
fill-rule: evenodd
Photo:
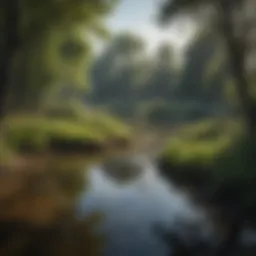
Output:
M232 11L234 4L230 0L220 0L220 19L223 36L226 40L230 68L235 79L238 97L245 117L247 131L253 135L256 129L256 113L245 70L245 47L234 35ZM242 39L244 40L244 39Z

